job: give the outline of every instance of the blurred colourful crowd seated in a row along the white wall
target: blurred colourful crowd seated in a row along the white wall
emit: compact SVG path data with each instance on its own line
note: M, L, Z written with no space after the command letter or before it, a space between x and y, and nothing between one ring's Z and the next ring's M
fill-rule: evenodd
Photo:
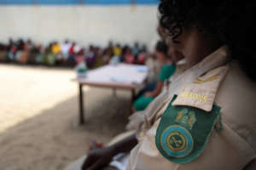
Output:
M106 48L90 45L84 48L76 42L50 42L48 45L36 44L32 40L9 39L9 43L0 42L0 62L12 62L23 65L70 66L85 61L89 68L108 64L113 58L128 64L143 65L150 56L146 45L135 42L133 46L108 42Z

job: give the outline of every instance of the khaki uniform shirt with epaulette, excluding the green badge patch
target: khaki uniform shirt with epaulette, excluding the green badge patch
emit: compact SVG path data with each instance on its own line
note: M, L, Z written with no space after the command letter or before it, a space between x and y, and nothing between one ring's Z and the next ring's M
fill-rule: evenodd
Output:
M127 170L239 170L252 161L256 151L256 85L236 62L228 63L228 49L219 48L201 63L177 77L168 92L160 94L145 111L139 127L139 143L131 150ZM212 111L213 102L222 107L223 130L212 130L201 156L176 164L161 156L154 138L160 117L174 94L172 105L189 105Z

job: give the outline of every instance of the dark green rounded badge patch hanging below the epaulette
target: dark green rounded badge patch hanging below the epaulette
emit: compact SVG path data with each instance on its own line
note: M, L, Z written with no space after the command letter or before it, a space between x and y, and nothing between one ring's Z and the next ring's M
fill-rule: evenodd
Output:
M164 112L155 136L162 156L175 163L188 163L201 155L212 132L220 107L211 112L189 106L172 106L173 97Z

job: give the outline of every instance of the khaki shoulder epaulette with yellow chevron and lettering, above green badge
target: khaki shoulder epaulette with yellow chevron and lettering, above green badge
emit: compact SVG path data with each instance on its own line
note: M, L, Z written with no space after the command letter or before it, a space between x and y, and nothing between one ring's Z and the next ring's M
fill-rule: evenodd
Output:
M185 71L176 82L177 86L173 94L177 94L177 99L172 105L188 105L204 111L212 111L218 87L229 71L229 66L225 65L228 60L229 50L224 46Z

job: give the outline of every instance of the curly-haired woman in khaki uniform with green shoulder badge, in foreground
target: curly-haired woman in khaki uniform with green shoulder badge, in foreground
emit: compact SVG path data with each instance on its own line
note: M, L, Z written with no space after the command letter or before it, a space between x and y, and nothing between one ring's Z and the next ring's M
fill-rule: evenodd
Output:
M128 170L256 169L255 8L161 0L166 40L187 70L148 105L136 135L91 151L82 169L118 169L108 163L130 150Z

